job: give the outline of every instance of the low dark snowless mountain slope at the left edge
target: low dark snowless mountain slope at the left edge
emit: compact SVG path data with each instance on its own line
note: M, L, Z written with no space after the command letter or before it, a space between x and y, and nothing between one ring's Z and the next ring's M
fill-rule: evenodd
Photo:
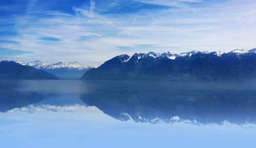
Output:
M0 79L57 79L54 74L13 61L0 62Z

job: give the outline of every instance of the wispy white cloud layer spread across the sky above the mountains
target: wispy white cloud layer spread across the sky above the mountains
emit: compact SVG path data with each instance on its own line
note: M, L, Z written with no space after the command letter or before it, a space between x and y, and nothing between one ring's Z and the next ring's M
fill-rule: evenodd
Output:
M137 12L134 18L134 13L97 13L95 2L91 1L90 10L73 8L75 16L57 11L40 12L51 17L28 14L15 18L15 29L20 36L0 37L0 40L10 38L20 44L2 43L1 46L35 52L31 56L22 55L16 61L66 62L67 59L84 66L100 65L118 54L137 51L230 51L256 46L254 2L226 1L201 7L178 0L138 1L176 8L143 9L143 13ZM113 7L118 6L113 4ZM54 37L60 41L46 42L38 40L40 37ZM120 46L129 49L119 49Z

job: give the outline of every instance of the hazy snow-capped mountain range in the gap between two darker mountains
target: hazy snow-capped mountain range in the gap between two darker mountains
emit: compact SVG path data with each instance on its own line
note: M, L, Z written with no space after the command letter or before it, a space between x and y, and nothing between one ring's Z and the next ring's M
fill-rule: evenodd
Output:
M34 67L36 69L45 70L49 73L53 73L59 78L63 79L75 79L81 77L86 71L91 69L91 67L83 67L78 62L72 63L42 63L41 61L33 61L33 62L17 62L22 65L27 65Z

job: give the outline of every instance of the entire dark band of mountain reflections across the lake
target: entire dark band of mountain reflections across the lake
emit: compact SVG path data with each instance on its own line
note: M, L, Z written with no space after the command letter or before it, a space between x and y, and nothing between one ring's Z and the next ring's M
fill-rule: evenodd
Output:
M89 105L121 121L255 124L255 85L254 81L5 80L0 83L0 112L29 110L28 105L34 105L28 112L75 111Z

